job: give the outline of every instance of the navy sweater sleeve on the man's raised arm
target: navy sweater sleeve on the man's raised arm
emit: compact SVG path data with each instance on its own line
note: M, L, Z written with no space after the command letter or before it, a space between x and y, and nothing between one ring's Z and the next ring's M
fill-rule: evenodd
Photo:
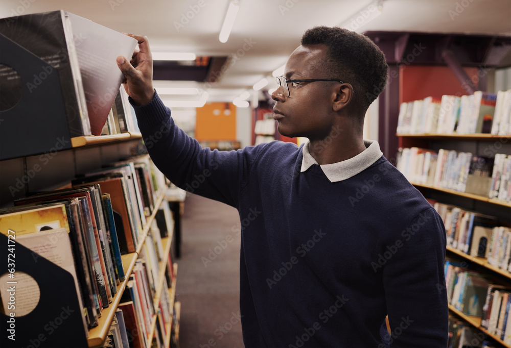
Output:
M130 98L138 127L154 164L176 186L230 206L238 206L239 187L257 147L238 151L211 151L179 129L155 93L153 100L136 106Z

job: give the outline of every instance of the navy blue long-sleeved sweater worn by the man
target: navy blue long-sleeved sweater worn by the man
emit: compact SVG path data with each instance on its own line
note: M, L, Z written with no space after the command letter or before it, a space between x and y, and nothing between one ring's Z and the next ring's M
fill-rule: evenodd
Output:
M211 151L157 95L134 108L174 184L239 211L246 347L447 345L443 222L383 156L331 182L295 144Z

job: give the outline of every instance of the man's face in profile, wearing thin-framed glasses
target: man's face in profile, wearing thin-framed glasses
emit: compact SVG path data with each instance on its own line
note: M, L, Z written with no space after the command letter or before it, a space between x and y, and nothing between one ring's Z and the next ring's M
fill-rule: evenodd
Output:
M321 69L327 59L326 45L299 46L286 64L284 76L287 80L328 79ZM307 137L310 140L323 139L333 127L332 102L335 99L335 82L298 82L281 86L271 94L276 100L273 107L278 121L278 132L288 137Z

